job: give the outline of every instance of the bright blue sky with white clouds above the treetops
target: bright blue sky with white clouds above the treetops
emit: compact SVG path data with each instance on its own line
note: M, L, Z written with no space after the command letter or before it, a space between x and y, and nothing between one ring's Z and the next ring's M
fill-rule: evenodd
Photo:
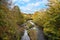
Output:
M12 0L12 2L19 6L23 13L34 13L41 9L47 8L47 0Z

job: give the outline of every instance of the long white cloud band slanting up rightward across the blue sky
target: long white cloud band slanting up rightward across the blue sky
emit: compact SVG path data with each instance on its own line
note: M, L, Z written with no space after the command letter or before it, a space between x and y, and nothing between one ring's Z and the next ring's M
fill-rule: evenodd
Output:
M43 0L41 2L35 2L35 3L28 3L26 6L21 6L20 8L23 10L23 11L36 11L36 8L38 6L40 6L41 4L46 4L48 1L47 0ZM39 9L38 9L39 10Z

